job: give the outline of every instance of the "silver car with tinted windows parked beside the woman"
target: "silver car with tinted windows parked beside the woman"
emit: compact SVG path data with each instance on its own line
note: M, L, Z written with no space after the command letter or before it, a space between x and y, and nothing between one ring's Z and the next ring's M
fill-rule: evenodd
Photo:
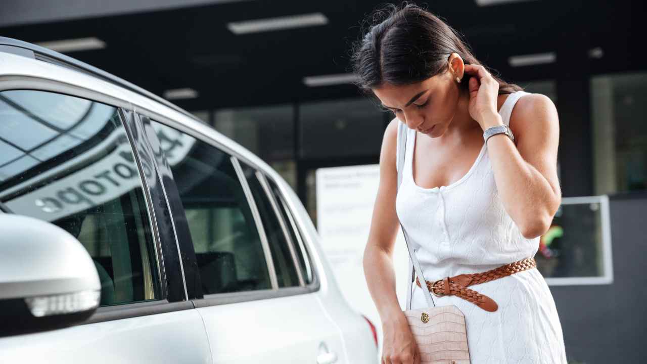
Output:
M285 181L162 98L0 38L0 363L375 363Z

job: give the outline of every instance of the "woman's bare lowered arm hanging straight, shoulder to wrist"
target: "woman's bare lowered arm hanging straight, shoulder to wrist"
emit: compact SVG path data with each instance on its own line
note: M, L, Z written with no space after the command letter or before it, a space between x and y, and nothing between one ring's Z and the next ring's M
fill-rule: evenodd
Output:
M402 313L395 294L393 269L393 246L399 227L395 214L397 123L397 119L389 123L382 139L380 185L373 207L368 242L364 249L366 283L382 323Z

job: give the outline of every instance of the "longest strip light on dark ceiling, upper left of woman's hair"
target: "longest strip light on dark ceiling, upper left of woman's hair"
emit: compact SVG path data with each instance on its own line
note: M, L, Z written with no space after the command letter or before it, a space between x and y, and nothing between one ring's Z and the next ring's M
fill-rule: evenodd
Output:
M269 32L270 30L313 27L315 25L326 25L327 23L328 18L322 13L313 13L295 16L269 17L266 19L248 21L235 21L228 23L227 28L234 34L247 34Z

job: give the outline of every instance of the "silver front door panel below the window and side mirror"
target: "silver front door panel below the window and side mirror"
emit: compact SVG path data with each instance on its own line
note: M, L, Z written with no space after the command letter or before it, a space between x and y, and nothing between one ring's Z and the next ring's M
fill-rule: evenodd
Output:
M202 317L181 310L0 338L0 363L212 363Z

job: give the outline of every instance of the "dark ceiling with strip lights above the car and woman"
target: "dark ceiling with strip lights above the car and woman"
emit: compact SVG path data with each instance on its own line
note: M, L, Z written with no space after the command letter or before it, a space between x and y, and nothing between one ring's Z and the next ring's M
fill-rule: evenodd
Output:
M244 1L0 28L0 36L39 42L97 37L107 48L69 56L161 95L191 87L189 110L258 106L358 95L352 85L307 87L304 76L348 71L349 43L376 1ZM424 5L424 3L419 3ZM645 69L643 1L527 1L479 7L474 0L431 1L428 8L465 34L485 64L514 82L553 78L569 49L602 47L593 73ZM235 35L230 21L322 12L327 25ZM509 56L558 52L551 65L509 67ZM563 71L562 71L563 72Z

